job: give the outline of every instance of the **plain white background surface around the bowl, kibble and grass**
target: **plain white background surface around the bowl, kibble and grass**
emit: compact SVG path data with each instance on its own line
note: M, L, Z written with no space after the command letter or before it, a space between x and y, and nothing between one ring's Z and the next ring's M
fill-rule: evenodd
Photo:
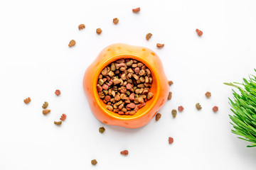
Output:
M255 74L255 5L253 0L1 1L0 169L255 169L256 148L230 132L232 91L223 85ZM132 13L138 6L141 11ZM78 30L80 23L85 30ZM203 30L201 38L196 28ZM153 36L146 41L149 32ZM70 48L72 39L77 44ZM151 48L174 81L173 98L159 111L158 122L131 130L103 125L92 115L83 74L115 42ZM157 42L165 47L156 49ZM55 89L62 94L55 96ZM32 101L26 105L28 96ZM51 110L46 116L44 101ZM180 105L185 110L172 118L171 110ZM62 113L67 119L58 127L53 121ZM127 157L119 154L123 149Z

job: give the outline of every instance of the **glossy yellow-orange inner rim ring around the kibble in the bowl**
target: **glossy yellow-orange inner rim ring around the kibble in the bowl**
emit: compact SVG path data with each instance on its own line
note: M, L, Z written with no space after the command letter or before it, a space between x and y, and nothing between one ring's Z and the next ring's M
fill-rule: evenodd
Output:
M100 75L100 72L102 71L102 69L104 69L108 64L110 64L111 62L114 62L116 60L119 60L121 58L127 59L127 58L131 58L134 60L138 60L139 62L142 62L143 64L146 65L146 67L149 68L149 70L151 71L151 73L153 73L154 75L154 79L153 81L156 81L156 94L154 94L153 96L153 103L151 103L151 106L149 106L146 111L144 111L144 113L142 114L134 114L134 115L121 115L122 117L120 118L118 113L114 113L112 111L107 110L107 108L103 107L102 104L100 103L100 100L102 100L97 92L97 80L98 77ZM152 77L153 78L153 77ZM159 81L159 76L156 73L156 69L154 69L154 66L147 60L145 60L143 57L140 57L139 55L130 55L130 54L122 54L122 55L114 55L112 57L110 57L109 59L102 61L102 64L100 65L100 68L96 70L94 77L92 79L93 83L92 83L92 94L93 97L95 98L95 102L97 104L97 106L100 108L100 110L102 111L102 113L105 113L106 115L110 116L111 118L117 119L117 120L134 120L134 119L138 119L143 117L144 115L146 115L147 113L149 113L152 108L154 108L154 106L157 103L157 100L159 99L159 94L160 94L160 81Z

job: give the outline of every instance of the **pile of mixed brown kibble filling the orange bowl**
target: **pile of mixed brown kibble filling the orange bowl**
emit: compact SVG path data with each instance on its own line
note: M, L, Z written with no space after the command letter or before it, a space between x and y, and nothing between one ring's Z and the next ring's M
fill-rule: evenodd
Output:
M119 115L134 115L154 94L153 79L145 64L134 59L119 59L102 69L97 91L106 108Z

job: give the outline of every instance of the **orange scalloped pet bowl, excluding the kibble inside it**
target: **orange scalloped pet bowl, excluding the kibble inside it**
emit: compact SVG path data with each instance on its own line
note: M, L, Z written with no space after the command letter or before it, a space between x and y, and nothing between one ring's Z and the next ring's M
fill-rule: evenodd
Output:
M146 65L151 70L153 82L151 91L154 96L151 100L146 101L146 106L140 108L135 115L119 115L107 110L106 104L103 103L97 93L97 79L102 69L108 64L120 58L132 58ZM87 68L83 79L83 88L87 99L90 103L92 113L97 120L108 125L118 125L125 128L140 128L154 118L161 106L167 100L169 94L169 85L161 60L156 53L146 47L136 47L126 44L113 44L100 52L92 64Z

